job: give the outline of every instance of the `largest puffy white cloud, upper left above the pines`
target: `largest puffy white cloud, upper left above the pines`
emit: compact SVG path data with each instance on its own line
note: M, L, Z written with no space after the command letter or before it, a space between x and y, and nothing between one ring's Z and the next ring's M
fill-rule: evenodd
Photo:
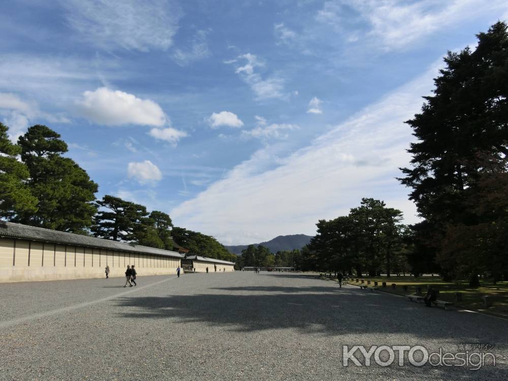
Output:
M107 87L83 92L83 98L76 101L76 105L84 117L99 124L163 126L169 122L155 102Z

